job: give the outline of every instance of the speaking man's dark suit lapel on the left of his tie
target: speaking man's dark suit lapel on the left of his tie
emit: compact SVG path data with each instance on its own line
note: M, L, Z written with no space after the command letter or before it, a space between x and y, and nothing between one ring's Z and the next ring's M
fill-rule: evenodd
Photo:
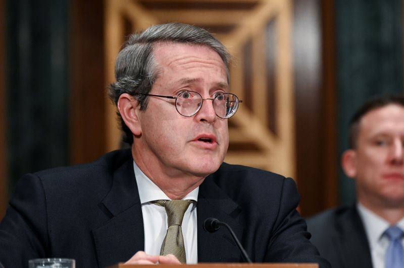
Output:
M111 191L100 207L112 217L92 230L100 267L128 260L144 250L143 218L132 158L114 173Z

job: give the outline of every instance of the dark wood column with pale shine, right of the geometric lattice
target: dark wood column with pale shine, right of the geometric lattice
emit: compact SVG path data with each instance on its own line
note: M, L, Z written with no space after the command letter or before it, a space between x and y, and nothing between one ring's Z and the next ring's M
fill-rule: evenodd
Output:
M338 166L333 1L294 1L296 161L300 212L337 205Z

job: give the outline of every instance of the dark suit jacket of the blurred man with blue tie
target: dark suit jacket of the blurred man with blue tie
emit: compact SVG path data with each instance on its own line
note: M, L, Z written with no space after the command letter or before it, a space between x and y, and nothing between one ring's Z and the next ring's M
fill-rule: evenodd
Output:
M307 219L311 242L333 268L372 268L368 238L356 205Z

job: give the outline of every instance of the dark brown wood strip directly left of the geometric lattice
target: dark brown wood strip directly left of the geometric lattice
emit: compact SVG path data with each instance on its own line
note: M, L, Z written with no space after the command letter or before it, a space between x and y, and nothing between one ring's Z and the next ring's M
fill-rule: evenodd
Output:
M93 161L107 151L104 6L100 3L71 3L71 164Z

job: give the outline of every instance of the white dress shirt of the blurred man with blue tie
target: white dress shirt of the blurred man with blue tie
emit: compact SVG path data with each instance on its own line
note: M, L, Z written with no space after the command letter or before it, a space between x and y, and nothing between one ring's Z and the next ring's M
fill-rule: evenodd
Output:
M380 216L365 208L361 203L358 203L358 211L368 237L373 268L385 268L385 255L390 240L386 235L383 235L383 233L390 224ZM402 218L396 225L404 230L404 218ZM401 239L401 244L404 246L404 239Z

